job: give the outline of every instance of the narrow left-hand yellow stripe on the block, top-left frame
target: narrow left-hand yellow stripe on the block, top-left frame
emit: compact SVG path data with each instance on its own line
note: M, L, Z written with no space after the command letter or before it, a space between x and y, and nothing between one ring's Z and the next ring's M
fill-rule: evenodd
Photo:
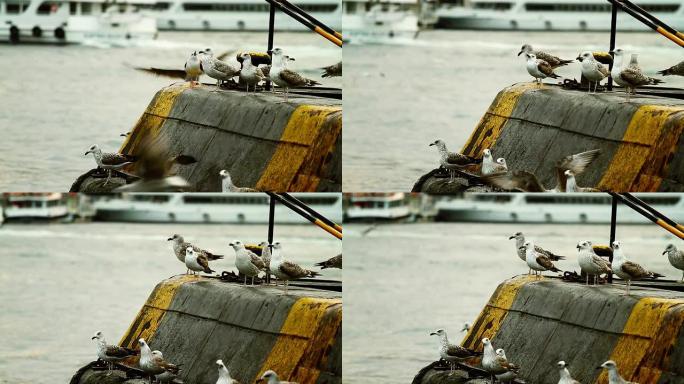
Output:
M119 152L135 153L136 146L143 142L143 138L145 140L156 138L162 124L166 121L165 118L171 113L176 98L188 88L190 88L190 83L183 82L159 91L138 119L131 134L124 140Z

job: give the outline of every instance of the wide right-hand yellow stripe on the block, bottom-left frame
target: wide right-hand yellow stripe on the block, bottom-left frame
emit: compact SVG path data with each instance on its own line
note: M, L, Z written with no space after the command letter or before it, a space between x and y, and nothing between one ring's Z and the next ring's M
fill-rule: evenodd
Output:
M272 369L278 373L281 380L314 384L320 373L312 366L316 362L302 363L311 357L305 355L316 353L323 356L326 346L334 342L337 328L342 321L341 306L341 299L305 297L297 300L290 308L271 353L252 382ZM326 313L335 308L340 311L339 316L333 316L330 320ZM335 317L339 319L335 320ZM328 321L324 322L326 318ZM326 340L321 340L321 337Z

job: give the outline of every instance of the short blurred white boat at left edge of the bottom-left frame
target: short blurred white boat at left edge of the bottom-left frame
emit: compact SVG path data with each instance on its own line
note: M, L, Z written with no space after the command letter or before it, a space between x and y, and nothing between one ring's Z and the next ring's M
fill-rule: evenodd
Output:
M7 221L55 220L69 213L61 193L5 193L4 205Z

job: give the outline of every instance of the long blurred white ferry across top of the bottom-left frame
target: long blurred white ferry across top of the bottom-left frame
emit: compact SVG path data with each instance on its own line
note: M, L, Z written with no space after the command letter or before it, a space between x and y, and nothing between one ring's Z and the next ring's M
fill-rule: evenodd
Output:
M342 220L340 193L292 196L334 222ZM93 219L154 223L268 223L269 197L262 193L132 193L93 195ZM304 224L306 219L276 203L275 220Z

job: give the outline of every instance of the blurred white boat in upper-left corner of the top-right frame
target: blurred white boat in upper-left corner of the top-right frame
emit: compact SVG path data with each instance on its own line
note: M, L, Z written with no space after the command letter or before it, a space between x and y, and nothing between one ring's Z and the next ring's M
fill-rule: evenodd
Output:
M419 31L417 0L344 0L344 40L349 43L402 43Z

